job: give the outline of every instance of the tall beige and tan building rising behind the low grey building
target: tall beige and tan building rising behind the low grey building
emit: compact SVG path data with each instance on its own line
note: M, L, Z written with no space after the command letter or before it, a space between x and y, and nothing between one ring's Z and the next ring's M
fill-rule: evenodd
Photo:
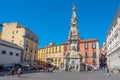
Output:
M2 29L2 39L15 43L23 48L23 63L36 63L38 37L32 31L16 22L4 23Z

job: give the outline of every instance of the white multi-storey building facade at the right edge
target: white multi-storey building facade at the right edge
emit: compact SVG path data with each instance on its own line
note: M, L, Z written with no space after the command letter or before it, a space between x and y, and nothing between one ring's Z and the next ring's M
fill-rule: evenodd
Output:
M120 69L120 8L110 26L106 39L108 67Z

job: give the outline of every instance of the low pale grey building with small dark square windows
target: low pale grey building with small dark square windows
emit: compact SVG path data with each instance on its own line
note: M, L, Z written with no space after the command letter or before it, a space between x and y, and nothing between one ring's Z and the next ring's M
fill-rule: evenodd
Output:
M22 48L0 39L0 64L8 65L21 62Z

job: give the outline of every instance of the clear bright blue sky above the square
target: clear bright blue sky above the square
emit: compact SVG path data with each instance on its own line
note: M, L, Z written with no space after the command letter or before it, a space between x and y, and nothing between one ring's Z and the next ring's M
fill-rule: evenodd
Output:
M68 40L72 2L76 3L79 35L105 41L120 0L0 0L0 23L18 22L39 37L39 48Z

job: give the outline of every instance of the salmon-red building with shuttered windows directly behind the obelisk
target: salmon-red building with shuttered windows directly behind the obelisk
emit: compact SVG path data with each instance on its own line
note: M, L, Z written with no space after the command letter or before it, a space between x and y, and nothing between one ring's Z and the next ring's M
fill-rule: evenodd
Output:
M65 42L63 45L63 54L69 52L68 42ZM88 39L81 40L79 39L79 53L82 55L82 64L85 66L94 67L95 69L99 68L99 40L97 39ZM84 67L85 69L85 67Z

